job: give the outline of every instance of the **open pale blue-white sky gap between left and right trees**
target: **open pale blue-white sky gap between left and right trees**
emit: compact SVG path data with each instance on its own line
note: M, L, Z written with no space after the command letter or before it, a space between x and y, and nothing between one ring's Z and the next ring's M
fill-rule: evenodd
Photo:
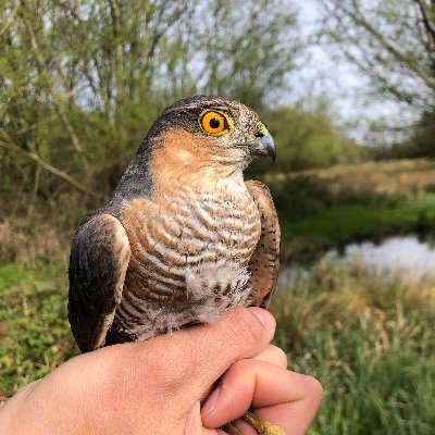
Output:
M303 37L309 38L319 29L319 5L315 0L294 0L300 10L299 24ZM332 112L346 134L359 141L370 142L371 123L394 125L396 121L413 120L415 114L395 101L370 97L370 82L358 69L345 61L333 59L325 47L312 46L309 55L290 76L290 99L315 100L319 96L333 102ZM386 132L383 140L394 141ZM389 136L389 137L388 137Z

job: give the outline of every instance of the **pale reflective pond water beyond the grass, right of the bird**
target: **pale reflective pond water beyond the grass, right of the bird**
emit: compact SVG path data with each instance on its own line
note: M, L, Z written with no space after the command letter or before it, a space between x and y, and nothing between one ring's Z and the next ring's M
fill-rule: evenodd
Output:
M390 237L381 244L365 241L350 244L344 249L332 249L326 258L336 261L363 261L374 271L389 270L403 272L408 279L418 281L428 274L435 277L435 246L420 240L417 236ZM289 265L279 274L278 285L288 285L288 282L309 273L310 265Z

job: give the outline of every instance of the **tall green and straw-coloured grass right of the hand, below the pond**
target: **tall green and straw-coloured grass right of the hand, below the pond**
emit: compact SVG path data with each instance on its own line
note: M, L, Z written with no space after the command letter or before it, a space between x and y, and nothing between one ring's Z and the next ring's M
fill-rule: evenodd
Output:
M435 434L435 283L322 260L273 311L291 370L325 395L314 434Z

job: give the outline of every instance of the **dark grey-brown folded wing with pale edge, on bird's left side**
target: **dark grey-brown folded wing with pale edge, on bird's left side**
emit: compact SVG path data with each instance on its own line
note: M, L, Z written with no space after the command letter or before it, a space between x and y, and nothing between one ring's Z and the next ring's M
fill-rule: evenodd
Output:
M83 352L101 347L121 301L130 257L127 235L110 214L85 219L70 257L69 320Z

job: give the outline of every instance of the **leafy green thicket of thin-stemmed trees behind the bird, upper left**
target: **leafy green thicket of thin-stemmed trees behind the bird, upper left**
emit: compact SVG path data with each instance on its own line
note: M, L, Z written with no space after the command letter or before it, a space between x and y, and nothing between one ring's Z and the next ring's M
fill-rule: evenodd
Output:
M283 89L295 28L286 0L1 1L2 196L100 204L175 99Z

